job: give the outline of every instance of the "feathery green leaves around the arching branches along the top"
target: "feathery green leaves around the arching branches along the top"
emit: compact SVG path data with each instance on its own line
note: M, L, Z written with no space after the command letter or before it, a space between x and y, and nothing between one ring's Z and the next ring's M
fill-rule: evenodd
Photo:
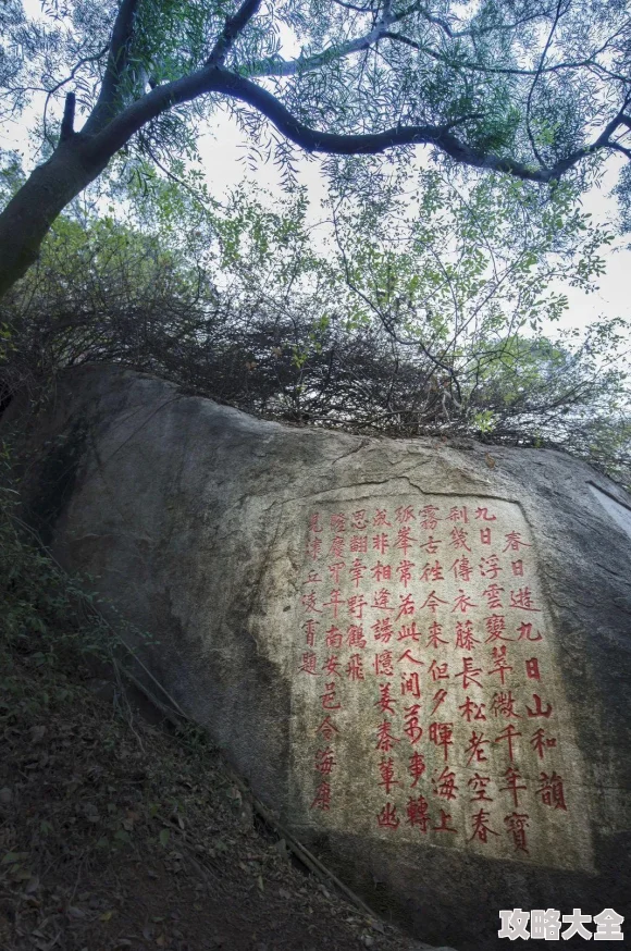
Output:
M0 83L7 109L46 98L38 134L51 146L66 91L78 92L84 113L94 104L124 4L44 4L40 18L27 21L16 3L4 7ZM119 58L115 110L202 70L237 8L224 0L138 3ZM255 78L313 128L357 134L431 124L458 136L462 148L448 150L451 162L484 168L485 159L510 158L545 173L590 138L603 147L598 132L628 101L628 27L622 3L567 3L553 15L535 0L517 7L446 0L392 11L374 3L351 9L334 0L284 0L261 4L231 37L225 67ZM200 91L169 118L152 115L128 144L132 153L150 158L156 151L169 164L169 157L194 148L200 119L216 114L220 102L259 147L267 137L262 116L226 91ZM406 153L399 157L405 166ZM282 160L290 162L287 155ZM586 184L589 159L584 164Z

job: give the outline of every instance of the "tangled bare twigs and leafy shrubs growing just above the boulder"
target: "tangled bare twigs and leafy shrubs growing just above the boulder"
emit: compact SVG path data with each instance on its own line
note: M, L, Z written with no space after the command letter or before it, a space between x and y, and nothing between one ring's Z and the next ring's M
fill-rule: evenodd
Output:
M143 181L137 226L59 219L3 301L8 395L113 360L269 418L552 443L628 480L623 321L550 334L559 282L589 289L609 240L568 189L425 170L381 205L338 190L316 226L301 190L210 210Z

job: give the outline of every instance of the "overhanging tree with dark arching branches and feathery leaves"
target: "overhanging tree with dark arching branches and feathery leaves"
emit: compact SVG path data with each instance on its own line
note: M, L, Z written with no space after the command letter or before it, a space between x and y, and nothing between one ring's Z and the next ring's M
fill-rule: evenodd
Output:
M286 168L295 147L405 160L424 145L580 185L631 158L623 0L47 0L29 18L9 0L0 15L4 115L39 104L48 156L0 214L0 294L114 156L181 158L218 108Z

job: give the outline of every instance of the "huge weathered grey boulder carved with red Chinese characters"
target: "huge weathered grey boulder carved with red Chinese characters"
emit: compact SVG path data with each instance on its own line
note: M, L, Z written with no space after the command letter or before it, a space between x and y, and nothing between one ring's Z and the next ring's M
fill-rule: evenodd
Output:
M103 367L30 445L57 554L375 909L462 951L506 944L499 909L628 914L619 487L549 450L281 427Z

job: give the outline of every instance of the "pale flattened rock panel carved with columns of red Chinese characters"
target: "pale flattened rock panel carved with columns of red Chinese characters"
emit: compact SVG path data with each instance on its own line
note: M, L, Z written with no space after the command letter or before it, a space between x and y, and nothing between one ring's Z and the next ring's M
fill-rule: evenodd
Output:
M570 854L576 750L518 505L322 505L305 526L298 588L304 822L581 861Z

